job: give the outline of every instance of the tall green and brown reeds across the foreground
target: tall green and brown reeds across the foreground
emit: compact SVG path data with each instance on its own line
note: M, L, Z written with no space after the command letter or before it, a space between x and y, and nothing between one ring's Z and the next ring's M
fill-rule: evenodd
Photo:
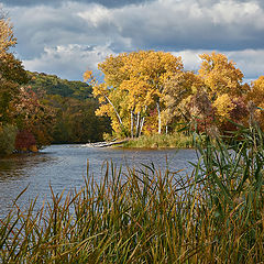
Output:
M106 165L75 194L1 220L2 263L261 263L262 132L206 139L193 175Z

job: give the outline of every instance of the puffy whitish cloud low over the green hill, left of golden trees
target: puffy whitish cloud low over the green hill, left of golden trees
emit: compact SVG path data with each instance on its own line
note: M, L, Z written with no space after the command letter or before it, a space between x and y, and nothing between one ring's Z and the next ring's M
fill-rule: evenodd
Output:
M65 79L82 79L86 69L97 72L97 64L110 54L114 54L110 45L61 45L45 47L40 57L24 61L26 69L55 74Z

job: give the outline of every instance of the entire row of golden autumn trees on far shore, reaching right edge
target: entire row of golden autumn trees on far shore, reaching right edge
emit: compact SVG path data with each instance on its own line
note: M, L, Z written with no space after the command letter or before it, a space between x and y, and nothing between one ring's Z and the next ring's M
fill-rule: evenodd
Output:
M97 116L109 117L118 136L174 132L183 123L200 132L227 133L252 117L263 129L264 76L245 84L226 55L213 52L200 59L195 73L170 53L121 53L99 64L103 82L90 70L84 79L100 102Z

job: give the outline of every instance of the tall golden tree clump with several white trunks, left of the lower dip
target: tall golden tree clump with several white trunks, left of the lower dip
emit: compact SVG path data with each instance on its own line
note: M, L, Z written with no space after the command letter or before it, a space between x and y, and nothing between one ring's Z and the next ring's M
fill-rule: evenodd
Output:
M94 86L94 95L101 103L97 114L109 116L116 132L130 131L133 138L141 134L148 113L156 112L155 127L161 133L165 81L183 70L182 58L164 52L139 51L110 56L99 64L99 69L105 82ZM86 75L90 78L89 72Z

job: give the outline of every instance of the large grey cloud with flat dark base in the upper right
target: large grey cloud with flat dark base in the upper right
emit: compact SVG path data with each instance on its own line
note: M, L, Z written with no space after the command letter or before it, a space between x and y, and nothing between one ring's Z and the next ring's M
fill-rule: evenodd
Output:
M261 48L264 11L257 2L160 0L116 11L120 34L152 48Z

